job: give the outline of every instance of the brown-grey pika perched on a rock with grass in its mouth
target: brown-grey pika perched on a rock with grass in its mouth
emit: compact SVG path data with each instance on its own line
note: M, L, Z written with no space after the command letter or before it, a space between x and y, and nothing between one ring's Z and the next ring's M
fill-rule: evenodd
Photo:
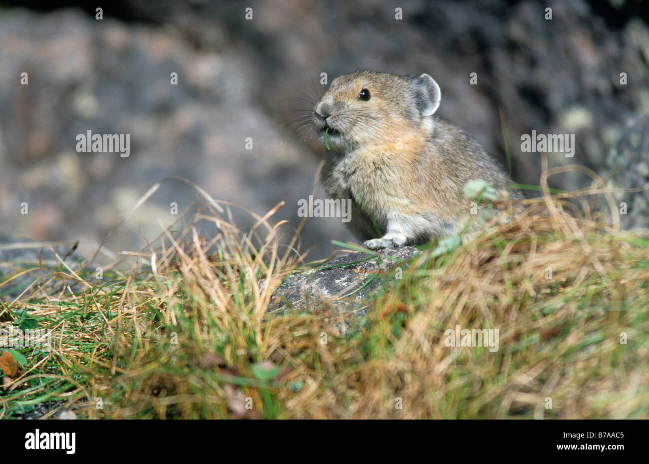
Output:
M441 91L428 74L356 71L336 77L313 108L328 145L322 182L352 202L351 232L369 249L418 245L457 234L472 179L504 189L508 176L461 129L436 116ZM509 196L520 199L520 191Z

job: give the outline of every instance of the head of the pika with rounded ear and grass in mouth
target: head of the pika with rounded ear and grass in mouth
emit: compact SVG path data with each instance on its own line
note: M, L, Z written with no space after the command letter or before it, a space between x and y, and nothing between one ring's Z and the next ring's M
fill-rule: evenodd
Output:
M340 149L393 141L430 130L441 92L428 74L356 71L336 77L313 108L315 133Z

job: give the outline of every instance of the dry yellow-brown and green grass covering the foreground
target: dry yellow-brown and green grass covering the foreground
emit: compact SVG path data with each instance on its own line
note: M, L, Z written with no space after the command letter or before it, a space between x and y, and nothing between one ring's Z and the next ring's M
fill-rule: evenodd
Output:
M106 282L61 266L49 278L77 291L0 303L3 326L24 308L58 334L49 354L21 350L3 414L63 398L52 414L648 418L649 235L621 233L586 204L575 215L565 199L527 203L452 254L424 250L346 337L329 333L326 308L267 314L300 263L279 252L273 212L243 234L211 208L195 220L217 237L193 223L167 232ZM498 351L447 347L458 324L498 329Z

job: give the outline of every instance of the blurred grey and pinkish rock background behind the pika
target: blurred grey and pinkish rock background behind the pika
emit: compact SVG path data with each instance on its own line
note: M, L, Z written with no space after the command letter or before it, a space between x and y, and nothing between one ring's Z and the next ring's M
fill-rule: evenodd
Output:
M539 184L539 154L520 151L521 134L536 130L575 134L574 158L548 153L550 166L614 171L611 186L641 187L649 182L648 23L642 0L3 1L0 232L80 239L87 252L153 184L180 176L260 215L286 202L274 218L288 221L288 242L325 150L302 127L326 89L321 73L330 82L360 68L430 73L442 89L437 115L503 163L509 145L517 182ZM77 153L76 137L88 130L130 134L130 156ZM579 173L550 179L563 189L589 184ZM617 199L628 203L626 225L647 225L647 191ZM177 219L172 202L182 211L195 201L187 184L166 182L114 232L108 254L153 239ZM252 225L246 214L236 221ZM340 219L313 218L302 249L323 258L332 239L352 237Z

